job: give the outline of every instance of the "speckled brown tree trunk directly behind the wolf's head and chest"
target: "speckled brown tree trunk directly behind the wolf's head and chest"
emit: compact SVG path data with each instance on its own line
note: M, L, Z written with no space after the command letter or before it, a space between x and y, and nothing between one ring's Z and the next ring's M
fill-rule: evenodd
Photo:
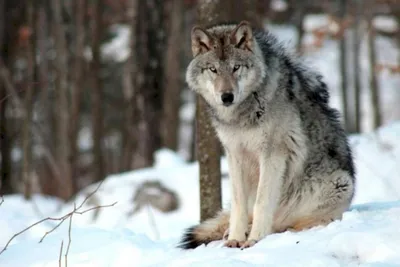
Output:
M261 27L258 1L240 1L235 5L228 0L199 1L198 23L204 27L212 24L248 20ZM206 111L205 100L196 98L196 153L199 161L200 220L214 216L221 209L220 142Z

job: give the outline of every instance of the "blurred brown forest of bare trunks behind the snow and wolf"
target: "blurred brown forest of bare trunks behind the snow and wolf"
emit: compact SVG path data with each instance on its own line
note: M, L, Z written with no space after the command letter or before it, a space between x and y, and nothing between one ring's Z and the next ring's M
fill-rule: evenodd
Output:
M311 33L311 46L303 40L309 14L330 19ZM166 147L199 160L202 218L209 217L221 206L221 150L203 100L184 82L192 26L243 19L257 27L291 25L300 54L334 40L343 122L357 133L365 130L362 105L372 109L374 128L384 123L381 71L400 73L399 64L377 59L376 36L400 45L399 27L374 27L382 15L400 23L400 2L2 0L0 193L68 200L109 174L151 166L155 151ZM127 49L118 46L124 38ZM368 74L360 69L364 38ZM363 104L366 83L371 98Z

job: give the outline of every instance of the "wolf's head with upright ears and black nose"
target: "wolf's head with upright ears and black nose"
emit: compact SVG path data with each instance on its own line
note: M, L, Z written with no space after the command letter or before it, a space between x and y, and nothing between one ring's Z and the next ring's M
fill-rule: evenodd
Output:
M248 22L196 26L191 38L194 58L186 81L211 106L237 105L262 82L265 64Z

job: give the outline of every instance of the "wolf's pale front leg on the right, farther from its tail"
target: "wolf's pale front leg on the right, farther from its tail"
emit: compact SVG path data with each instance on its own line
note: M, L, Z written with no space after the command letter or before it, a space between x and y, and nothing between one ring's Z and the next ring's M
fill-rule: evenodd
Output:
M286 160L282 153L261 156L260 180L253 208L253 225L242 248L251 247L272 233L273 217L281 197L285 164Z

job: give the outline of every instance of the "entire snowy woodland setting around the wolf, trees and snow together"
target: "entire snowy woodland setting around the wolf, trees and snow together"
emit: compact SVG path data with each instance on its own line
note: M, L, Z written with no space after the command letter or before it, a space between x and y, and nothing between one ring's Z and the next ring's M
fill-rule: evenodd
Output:
M357 193L326 229L183 253L231 199L191 30L242 20L323 75ZM400 0L0 0L0 266L399 266L399 102Z

